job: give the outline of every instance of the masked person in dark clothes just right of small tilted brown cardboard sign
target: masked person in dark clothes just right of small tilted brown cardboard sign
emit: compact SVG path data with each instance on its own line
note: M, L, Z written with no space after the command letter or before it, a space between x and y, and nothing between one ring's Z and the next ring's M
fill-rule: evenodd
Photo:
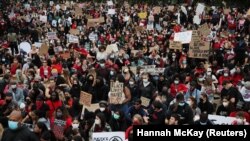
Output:
M108 102L104 101L104 100L100 101L99 102L99 107L100 107L99 109L95 110L95 114L101 112L101 113L103 113L105 115L106 120L110 121L112 114L111 114L111 111L110 111L110 109L108 107Z

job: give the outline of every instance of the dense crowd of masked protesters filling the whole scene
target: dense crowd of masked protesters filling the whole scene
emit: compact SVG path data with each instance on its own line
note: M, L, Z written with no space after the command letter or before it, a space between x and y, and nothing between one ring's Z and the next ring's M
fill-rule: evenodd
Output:
M59 8L61 4L66 8ZM80 14L75 13L78 5ZM211 30L202 37L210 39L210 53L198 59L189 57L189 44L182 44L182 50L169 48L175 33L199 28L193 21L197 4L169 10L170 5L161 5L155 13L154 6L145 3L2 1L1 140L91 141L94 132L124 131L131 141L133 125L213 125L210 114L236 117L233 125L247 125L248 9L206 5L199 17L200 25ZM116 13L107 14L109 8ZM141 12L146 18L138 16ZM39 15L47 16L47 22ZM89 18L99 17L103 23L88 25ZM152 30L147 30L149 23ZM79 30L79 43L68 42L71 29ZM48 32L56 32L57 39L48 40ZM22 42L30 43L29 52L20 49ZM36 42L47 43L48 52L40 54ZM119 50L106 52L110 44ZM59 52L54 50L58 46ZM65 52L70 56L65 58ZM165 70L152 75L143 72L147 65ZM124 84L122 102L110 104L110 83L117 81ZM82 110L82 91L92 95L92 104L99 103L95 111ZM141 97L150 99L149 105L143 105ZM53 131L59 120L65 121L62 136Z

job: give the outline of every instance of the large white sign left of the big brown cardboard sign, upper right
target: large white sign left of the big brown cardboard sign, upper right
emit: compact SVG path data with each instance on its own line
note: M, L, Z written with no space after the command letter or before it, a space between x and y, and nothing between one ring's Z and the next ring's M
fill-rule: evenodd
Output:
M178 32L174 34L174 41L179 41L182 44L188 44L192 39L192 31Z

